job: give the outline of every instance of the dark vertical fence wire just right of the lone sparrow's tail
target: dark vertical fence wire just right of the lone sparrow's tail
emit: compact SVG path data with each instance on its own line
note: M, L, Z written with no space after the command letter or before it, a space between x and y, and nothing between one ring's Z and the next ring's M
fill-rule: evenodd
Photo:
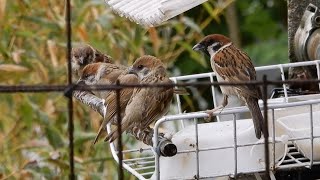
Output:
M267 178L270 178L270 159L269 159L269 130L268 130L268 81L267 76L263 76L263 92L262 92L262 98L263 98L263 114L264 114L264 127L262 127L263 130L263 137L264 137L264 155L265 155L265 175Z

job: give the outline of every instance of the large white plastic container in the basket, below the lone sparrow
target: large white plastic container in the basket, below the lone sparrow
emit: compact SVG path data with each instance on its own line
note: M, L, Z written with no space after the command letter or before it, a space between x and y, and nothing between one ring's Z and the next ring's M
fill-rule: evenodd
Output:
M251 119L237 120L238 145L254 144L255 137ZM199 149L234 146L233 121L206 123L198 125ZM279 139L279 138L277 138ZM172 139L178 152L195 150L195 126L191 125L176 133ZM260 140L261 141L261 140ZM273 148L270 147L270 165L273 164ZM285 154L285 144L275 146L276 162ZM199 176L212 177L235 172L234 148L199 152ZM264 145L250 145L237 149L237 173L263 171L265 168ZM181 153L174 157L160 157L160 179L193 179L197 174L195 152Z

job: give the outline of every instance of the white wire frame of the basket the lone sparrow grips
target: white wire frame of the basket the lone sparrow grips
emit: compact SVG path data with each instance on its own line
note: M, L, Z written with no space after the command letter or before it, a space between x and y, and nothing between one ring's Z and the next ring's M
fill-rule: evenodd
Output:
M300 159L296 159L292 156L292 153L287 153L287 156L290 157L289 160L284 160L284 162L293 162L291 164L287 164L287 165L276 165L275 162L275 144L278 143L279 141L275 140L275 116L274 116L274 111L276 109L279 108L288 108L288 107L297 107L297 106L305 106L305 105L309 105L310 107L310 126L313 126L313 116L312 116L312 109L313 106L316 104L320 104L320 99L315 99L315 100L306 100L306 101L300 101L300 102L288 102L288 91L287 91L287 86L290 83L293 83L294 81L290 81L290 80L286 80L286 76L285 76L285 72L287 68L290 67L302 67L302 66L316 66L317 69L317 78L318 81L314 81L314 82L318 82L320 80L320 66L319 66L320 60L315 60L315 61L307 61L307 62L296 62L296 63L286 63L286 64L277 64L277 65L268 65L268 66L261 66L261 67L256 67L256 71L257 73L264 71L264 70L279 70L280 72L280 77L281 77L281 81L268 81L267 85L271 85L271 84L277 84L277 85L281 85L283 90L284 90L284 97L282 97L282 103L280 104L272 104L272 105L268 105L267 106L267 110L271 111L271 120L272 120L272 141L269 142L269 145L273 146L273 162L272 162L272 166L270 167L270 171L275 171L275 170L282 170L282 169L290 169L290 168L297 168L297 167L309 167L311 168L314 165L319 165L320 161L314 161L313 159L310 159L309 162L302 162L300 161ZM179 84L180 81L187 81L187 80L198 80L198 79L209 79L208 82L208 86L210 86L210 83L217 83L214 81L215 77L215 73L214 72L210 72L210 73L201 73L201 74L193 74L193 75L184 75L184 76L176 76L176 77L171 77L170 79L177 85L181 85ZM183 83L182 83L183 84ZM219 83L217 83L219 84ZM319 88L320 88L320 83L319 83ZM217 89L214 88L214 86L211 86L211 94L212 94L212 101L214 106L217 106L219 104L217 104ZM229 146L229 147L215 147L215 148L207 148L207 149L199 149L198 148L198 119L199 118L206 118L208 117L208 115L204 112L191 112L191 113L184 113L183 110L181 109L181 95L176 94L175 95L175 101L176 101L176 109L177 109L177 114L175 115L167 115L162 117L161 119L159 119L158 121L156 121L155 126L154 126L154 139L153 139L153 147L150 148L140 148L140 149L130 149L130 150L123 150L123 153L139 153L139 152L152 152L153 155L148 155L147 157L140 157L140 158L132 158L132 159L124 159L123 160L123 167L129 171L130 173L132 173L134 176L136 176L138 179L148 179L151 177L151 175L155 174L156 179L160 179L161 177L161 172L160 172L160 155L158 153L156 153L155 149L157 148L157 144L158 144L158 132L159 132L159 128L160 126L165 123L165 122L169 122L169 121L176 121L178 123L181 124L181 128L186 127L185 125L185 120L189 120L193 119L194 123L193 125L195 126L195 138L196 138L196 146L194 150L185 150L185 151L178 151L177 154L181 154L181 153L190 153L190 152L195 152L196 153L196 157L197 157L197 174L195 176L196 179L206 179L206 178L213 178L213 177L220 177L220 176L231 176L231 177L235 177L237 176L239 173L237 172L237 148L239 147L244 147L244 146L252 146L252 145L256 145L256 144L242 144L242 145L237 145L237 135L236 135L236 115L237 113L244 113L244 112L249 112L247 107L233 107L233 108L225 108L223 111L221 112L216 112L215 115L217 115L217 122L220 121L219 116L220 115L228 115L228 114L232 114L233 115L233 129L234 129L234 146ZM261 107L261 109L264 109L263 106ZM214 122L213 122L214 123ZM110 125L108 125L107 129L108 132L110 132ZM320 136L315 136L313 135L313 127L311 128L311 134L310 137L305 137L305 138L291 138L289 139L290 142L295 141L295 140L302 140L302 139L310 139L311 140L311 151L312 151L312 157L313 157L313 153L314 153L314 149L313 149L313 142L315 138L320 138ZM257 144L264 144L263 142L257 143ZM228 149L228 148L233 148L234 149L234 173L233 174L220 174L219 176L212 176L212 177L201 177L199 175L199 152L201 151L209 151L209 150L217 150L217 149ZM114 143L110 143L110 149L112 152L112 155L115 159L116 162L118 162L118 155L117 155L117 150L115 147ZM290 148L289 148L290 149ZM293 149L291 147L291 149ZM293 153L294 154L294 153ZM131 162L131 163L128 163ZM143 164L143 162L146 162L146 166L141 166L138 168L133 168L131 167L132 162L137 162L137 164L141 163ZM150 169L150 171L148 172L143 172L143 173L139 173L139 171L141 170L146 170L146 169ZM241 172L241 173L257 173L257 172L263 172L263 170L259 170L259 171L248 171L248 172ZM273 177L271 175L271 177Z

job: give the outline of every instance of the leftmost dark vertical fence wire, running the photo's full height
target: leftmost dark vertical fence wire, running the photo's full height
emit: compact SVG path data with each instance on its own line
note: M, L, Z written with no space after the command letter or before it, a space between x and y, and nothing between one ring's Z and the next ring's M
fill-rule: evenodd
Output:
M72 85L72 69L71 69L71 6L70 0L66 1L66 36L67 36L67 63L68 63L68 85ZM72 101L72 89L71 95L68 97L68 134L69 134L69 179L75 179L74 173L74 146L73 146L73 101Z

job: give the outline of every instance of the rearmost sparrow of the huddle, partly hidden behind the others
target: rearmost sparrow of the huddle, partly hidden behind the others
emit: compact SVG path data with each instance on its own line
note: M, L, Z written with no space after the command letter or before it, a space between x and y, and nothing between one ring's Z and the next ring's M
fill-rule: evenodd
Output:
M71 67L75 78L79 78L81 76L83 68L88 64L95 62L112 62L112 58L110 56L101 53L87 44L73 48L71 51L71 57Z

